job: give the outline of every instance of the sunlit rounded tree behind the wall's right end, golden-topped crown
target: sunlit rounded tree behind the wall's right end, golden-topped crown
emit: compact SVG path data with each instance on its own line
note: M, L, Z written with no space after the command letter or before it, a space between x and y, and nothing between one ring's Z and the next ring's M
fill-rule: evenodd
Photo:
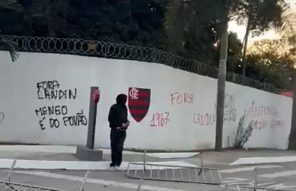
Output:
M253 78L260 82L275 85L278 89L289 89L293 77L296 57L291 46L284 39L265 39L256 41L248 49L247 61L253 67ZM248 74L252 75L252 74Z

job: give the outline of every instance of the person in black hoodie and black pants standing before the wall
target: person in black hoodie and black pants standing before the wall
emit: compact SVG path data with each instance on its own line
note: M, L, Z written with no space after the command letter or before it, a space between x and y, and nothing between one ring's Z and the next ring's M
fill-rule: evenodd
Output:
M127 136L127 128L130 122L127 119L127 95L119 94L116 97L116 104L112 105L108 114L111 142L111 164L110 171L119 169L122 162L122 150Z

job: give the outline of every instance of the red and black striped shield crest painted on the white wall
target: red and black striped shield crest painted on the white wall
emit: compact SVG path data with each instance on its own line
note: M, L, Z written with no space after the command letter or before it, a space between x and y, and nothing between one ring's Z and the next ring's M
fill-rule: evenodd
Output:
M151 89L128 88L128 108L136 122L147 115L150 106Z

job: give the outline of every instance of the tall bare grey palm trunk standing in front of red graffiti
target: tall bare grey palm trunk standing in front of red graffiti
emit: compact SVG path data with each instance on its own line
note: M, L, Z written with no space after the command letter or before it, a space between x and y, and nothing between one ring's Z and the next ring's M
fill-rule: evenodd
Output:
M223 122L224 122L224 97L226 81L226 62L228 50L228 20L225 21L225 29L221 38L220 60L218 70L217 108L216 108L216 138L215 151L222 151Z

